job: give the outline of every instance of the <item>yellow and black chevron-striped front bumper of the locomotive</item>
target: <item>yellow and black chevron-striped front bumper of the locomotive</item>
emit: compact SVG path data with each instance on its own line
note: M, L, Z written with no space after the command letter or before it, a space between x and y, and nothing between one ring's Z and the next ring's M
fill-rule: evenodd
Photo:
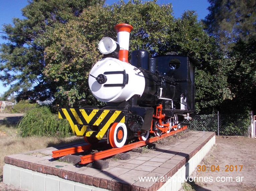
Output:
M76 136L101 139L112 123L125 122L125 112L125 110L114 109L59 108L59 118L68 119ZM98 126L98 131L87 127L90 125Z

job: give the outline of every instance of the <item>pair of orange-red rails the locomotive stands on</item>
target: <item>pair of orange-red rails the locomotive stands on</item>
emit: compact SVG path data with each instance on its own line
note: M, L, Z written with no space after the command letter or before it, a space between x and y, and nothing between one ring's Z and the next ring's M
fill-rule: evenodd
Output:
M108 150L99 151L99 152L94 153L94 154L81 156L80 157L81 158L80 164L87 164L87 163L93 162L95 160L107 158L107 157L116 155L118 153L126 152L126 151L132 150L134 148L144 146L148 143L152 143L152 142L155 142L155 141L160 140L162 138L165 138L165 137L171 136L173 134L176 134L180 131L185 130L186 128L187 128L187 126L184 126L184 127L181 127L180 129L177 129L176 131L171 131L169 133L164 133L160 136L151 137L151 138L149 138L145 141L138 141L138 142L134 142L134 143L131 143L131 144L127 144L127 145L122 146L121 148L111 148L111 149L108 149ZM75 153L83 152L83 151L89 150L91 147L92 147L92 145L89 144L89 145L84 145L84 146L77 146L77 147L71 147L71 148L52 151L52 157L57 158L57 157L61 157L61 156L66 156L68 154L75 154Z

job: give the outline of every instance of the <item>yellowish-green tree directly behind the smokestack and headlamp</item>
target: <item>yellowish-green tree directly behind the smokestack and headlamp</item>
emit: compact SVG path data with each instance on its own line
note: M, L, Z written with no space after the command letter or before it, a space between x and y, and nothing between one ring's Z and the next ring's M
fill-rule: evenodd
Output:
M107 7L91 6L81 14L78 22L59 25L52 31L54 34L49 35L53 43L45 50L47 66L44 70L48 79L58 83L56 98L62 104L92 103L87 83L90 69L101 58L97 50L100 39L108 36L117 40L114 26L129 23L134 27L130 52L136 45L146 44L151 54L155 54L161 41L166 41L167 33L163 31L168 29L167 20L169 23L173 20L171 12L169 5L121 1Z

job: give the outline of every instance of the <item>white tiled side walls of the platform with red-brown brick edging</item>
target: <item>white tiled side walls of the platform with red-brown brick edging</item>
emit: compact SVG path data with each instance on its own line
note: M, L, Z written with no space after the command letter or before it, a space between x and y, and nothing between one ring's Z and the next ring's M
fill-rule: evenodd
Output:
M196 149L187 154L174 168L165 174L166 177L172 177L172 181L167 179L158 181L148 188L80 175L65 169L42 164L30 163L12 157L12 155L5 157L3 182L27 190L179 190L185 177L194 171L214 144L215 133L213 132ZM86 176L86 181L83 181L83 176ZM182 181L173 181L174 177L176 177L176 180L178 180L178 177L182 177Z

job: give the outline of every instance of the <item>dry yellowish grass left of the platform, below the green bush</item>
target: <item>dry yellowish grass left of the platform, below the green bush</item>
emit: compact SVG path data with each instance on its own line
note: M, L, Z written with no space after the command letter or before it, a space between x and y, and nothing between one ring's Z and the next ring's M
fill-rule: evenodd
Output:
M3 175L4 157L11 154L46 148L68 142L81 141L79 137L26 137L17 136L16 127L0 125L0 177ZM1 182L1 178L0 178Z

